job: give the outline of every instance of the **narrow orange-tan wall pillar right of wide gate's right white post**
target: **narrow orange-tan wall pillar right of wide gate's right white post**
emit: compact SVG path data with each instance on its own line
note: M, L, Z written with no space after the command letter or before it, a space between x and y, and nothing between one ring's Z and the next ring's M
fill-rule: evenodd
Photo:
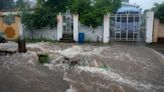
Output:
M154 20L153 42L158 42L159 20Z

